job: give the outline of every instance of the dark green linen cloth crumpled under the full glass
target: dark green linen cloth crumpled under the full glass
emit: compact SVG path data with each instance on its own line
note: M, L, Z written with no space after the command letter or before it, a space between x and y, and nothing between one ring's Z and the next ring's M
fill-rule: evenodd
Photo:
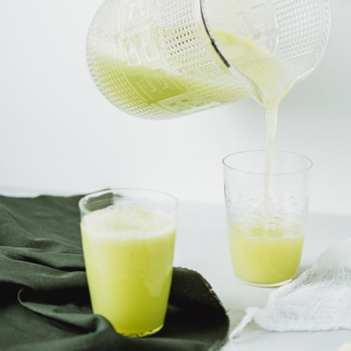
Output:
M229 319L192 270L174 268L164 328L154 336L121 336L92 313L79 199L0 196L0 350L218 350Z

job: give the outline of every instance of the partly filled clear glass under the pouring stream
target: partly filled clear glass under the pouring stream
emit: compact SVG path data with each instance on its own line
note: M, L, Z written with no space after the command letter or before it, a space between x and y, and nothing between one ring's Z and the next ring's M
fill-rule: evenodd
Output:
M298 272L303 251L312 161L265 150L223 159L227 234L234 274L246 284L280 286Z

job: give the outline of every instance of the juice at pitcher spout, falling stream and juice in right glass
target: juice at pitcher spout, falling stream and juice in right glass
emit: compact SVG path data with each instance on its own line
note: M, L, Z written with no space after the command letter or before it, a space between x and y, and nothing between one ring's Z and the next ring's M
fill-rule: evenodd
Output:
M270 183L277 130L278 105L289 91L294 72L265 48L249 39L213 33L219 47L240 72L257 86L256 99L266 108L265 189L259 218L236 218L228 239L234 272L255 284L287 282L296 276L303 249L304 230L297 223L270 215Z

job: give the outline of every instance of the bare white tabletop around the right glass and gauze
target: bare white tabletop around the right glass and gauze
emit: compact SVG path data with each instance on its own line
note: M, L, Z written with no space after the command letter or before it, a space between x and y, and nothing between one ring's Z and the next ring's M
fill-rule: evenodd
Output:
M348 237L351 217L310 213L298 274L310 267L325 249ZM246 307L263 307L274 291L247 286L234 277L224 204L180 202L174 265L197 270L204 276L227 310L231 329L243 317ZM338 351L344 343L351 343L351 331L278 333L264 331L251 322L235 339L235 346L227 343L221 351Z

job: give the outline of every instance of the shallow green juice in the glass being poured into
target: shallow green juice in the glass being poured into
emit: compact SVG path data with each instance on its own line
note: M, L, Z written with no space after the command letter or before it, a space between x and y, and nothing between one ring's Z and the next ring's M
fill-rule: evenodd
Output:
M296 277L305 233L294 223L246 220L228 230L235 275L244 282L265 286Z

